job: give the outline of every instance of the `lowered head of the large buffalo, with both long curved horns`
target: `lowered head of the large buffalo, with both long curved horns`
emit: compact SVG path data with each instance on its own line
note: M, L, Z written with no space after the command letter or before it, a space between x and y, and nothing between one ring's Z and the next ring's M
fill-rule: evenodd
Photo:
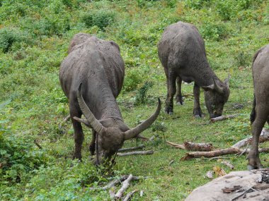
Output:
M154 114L135 128L129 129L120 118L106 118L98 120L84 102L84 98L81 95L81 84L79 85L76 95L79 107L87 119L87 122L83 123L86 125L88 124L87 126L93 128L96 132L95 164L97 165L110 161L113 154L118 152L125 140L135 138L143 130L149 128L160 113L161 101L158 99L158 106Z

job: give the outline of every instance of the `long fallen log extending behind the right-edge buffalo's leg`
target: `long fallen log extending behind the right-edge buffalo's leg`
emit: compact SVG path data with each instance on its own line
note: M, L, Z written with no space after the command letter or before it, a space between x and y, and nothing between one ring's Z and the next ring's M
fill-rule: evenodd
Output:
M269 148L260 148L258 149L260 153L268 153ZM181 161L185 161L188 159L194 159L194 158L211 158L211 157L219 157L219 156L224 156L227 154L240 154L241 152L244 152L244 154L248 154L250 152L250 149L247 150L240 150L239 148L236 147L230 147L227 149L220 149L220 150L213 150L210 152L188 152L185 157L181 158Z

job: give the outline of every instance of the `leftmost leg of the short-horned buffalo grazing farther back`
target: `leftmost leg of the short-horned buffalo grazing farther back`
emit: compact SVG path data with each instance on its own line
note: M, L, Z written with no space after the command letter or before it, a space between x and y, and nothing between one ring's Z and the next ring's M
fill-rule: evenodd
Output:
M167 114L173 114L173 96L176 94L176 75L173 71L168 71L168 76L166 73L166 84L167 84L167 97L166 97L166 107L165 112Z

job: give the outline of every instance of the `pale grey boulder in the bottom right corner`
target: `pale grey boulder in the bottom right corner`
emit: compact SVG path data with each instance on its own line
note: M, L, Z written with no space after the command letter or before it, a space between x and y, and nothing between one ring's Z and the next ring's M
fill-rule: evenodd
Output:
M269 169L232 171L202 185L185 201L269 201Z

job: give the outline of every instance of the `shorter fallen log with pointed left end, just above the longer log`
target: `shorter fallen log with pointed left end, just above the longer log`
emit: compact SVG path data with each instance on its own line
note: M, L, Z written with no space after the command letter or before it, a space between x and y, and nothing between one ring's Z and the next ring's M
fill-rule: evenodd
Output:
M173 142L166 141L168 145L172 147L176 147L181 150L189 150L189 151L210 151L212 150L213 146L211 143L195 143L195 142L184 142L183 145L178 145Z

